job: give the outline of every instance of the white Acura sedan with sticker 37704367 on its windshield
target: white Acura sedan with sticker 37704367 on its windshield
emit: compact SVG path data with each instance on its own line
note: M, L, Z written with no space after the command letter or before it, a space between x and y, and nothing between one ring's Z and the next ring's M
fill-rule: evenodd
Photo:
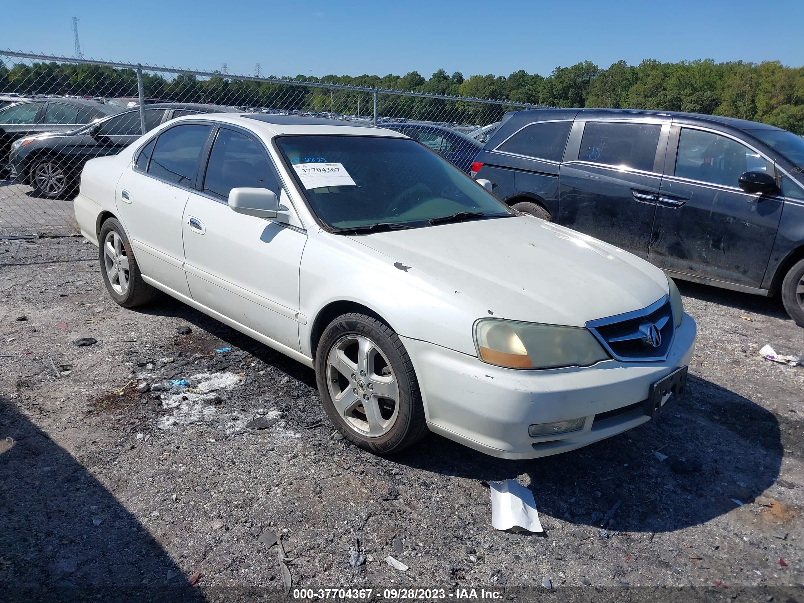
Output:
M673 281L484 184L392 130L229 113L87 162L75 210L117 303L161 290L313 367L375 453L433 431L541 457L682 397Z

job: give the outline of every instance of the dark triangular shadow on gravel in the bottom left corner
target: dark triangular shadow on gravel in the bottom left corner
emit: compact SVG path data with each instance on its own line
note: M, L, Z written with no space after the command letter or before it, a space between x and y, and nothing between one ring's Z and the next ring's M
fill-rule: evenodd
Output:
M203 601L146 527L2 396L0 476L0 598Z

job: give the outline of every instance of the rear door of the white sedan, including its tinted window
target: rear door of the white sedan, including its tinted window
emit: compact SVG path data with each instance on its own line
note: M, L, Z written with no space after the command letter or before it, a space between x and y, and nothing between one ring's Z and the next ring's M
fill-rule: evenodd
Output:
M137 154L115 193L142 274L186 297L182 217L211 131L192 122L164 130Z

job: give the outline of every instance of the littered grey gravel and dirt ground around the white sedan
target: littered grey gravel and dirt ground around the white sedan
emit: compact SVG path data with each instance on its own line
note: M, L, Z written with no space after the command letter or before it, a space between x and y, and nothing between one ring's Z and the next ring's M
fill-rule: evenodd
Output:
M309 369L170 299L115 305L91 244L0 241L0 586L278 597L277 533L293 589L804 601L804 369L757 354L801 353L804 330L778 301L679 285L699 339L657 421L534 461L436 436L381 458L334 434ZM491 527L506 478L544 534Z

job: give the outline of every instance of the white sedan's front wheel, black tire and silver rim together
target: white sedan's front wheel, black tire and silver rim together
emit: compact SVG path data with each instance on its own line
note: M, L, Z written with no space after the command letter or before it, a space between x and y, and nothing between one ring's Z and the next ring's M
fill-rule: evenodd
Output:
M410 357L384 322L358 313L335 318L318 343L315 373L326 414L360 448L398 453L428 432Z

